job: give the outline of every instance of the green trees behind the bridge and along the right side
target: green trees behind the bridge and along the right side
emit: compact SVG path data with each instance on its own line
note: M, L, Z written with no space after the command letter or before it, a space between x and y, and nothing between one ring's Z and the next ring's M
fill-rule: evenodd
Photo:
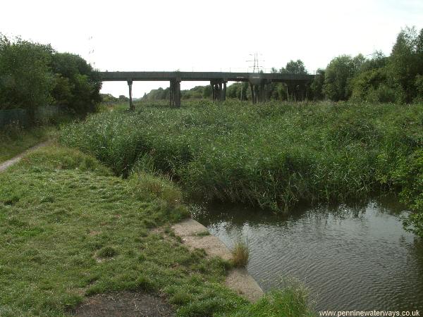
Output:
M285 67L272 68L272 73L307 74L299 59L289 61ZM211 98L212 89L197 86L181 91L183 99ZM314 80L307 85L271 83L267 96L271 100L331 100L367 102L411 103L423 101L423 29L415 27L401 30L391 54L385 56L374 51L372 56L341 55L333 58L325 69L317 70ZM248 82L235 82L228 86L226 97L250 99ZM153 89L145 100L168 99L168 88Z

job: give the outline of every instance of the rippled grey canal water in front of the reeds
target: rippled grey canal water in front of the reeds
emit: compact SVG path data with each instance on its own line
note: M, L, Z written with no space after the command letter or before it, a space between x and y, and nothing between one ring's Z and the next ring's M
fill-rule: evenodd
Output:
M263 290L294 278L317 311L422 310L423 241L403 229L407 214L392 199L379 199L288 216L214 205L192 216L228 247L247 240L247 270Z

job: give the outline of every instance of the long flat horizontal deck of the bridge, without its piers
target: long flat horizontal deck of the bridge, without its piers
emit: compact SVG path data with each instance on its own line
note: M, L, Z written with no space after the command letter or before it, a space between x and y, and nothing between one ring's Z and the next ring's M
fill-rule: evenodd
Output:
M222 72L99 72L101 80L109 81L210 81L248 82L266 80L269 82L308 81L314 75L278 73L222 73Z

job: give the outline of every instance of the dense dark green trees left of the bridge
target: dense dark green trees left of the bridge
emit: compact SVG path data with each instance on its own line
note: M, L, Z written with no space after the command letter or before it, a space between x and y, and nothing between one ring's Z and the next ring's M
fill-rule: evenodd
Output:
M37 108L55 105L85 114L102 101L101 87L82 57L0 34L0 110L22 108L34 119Z

